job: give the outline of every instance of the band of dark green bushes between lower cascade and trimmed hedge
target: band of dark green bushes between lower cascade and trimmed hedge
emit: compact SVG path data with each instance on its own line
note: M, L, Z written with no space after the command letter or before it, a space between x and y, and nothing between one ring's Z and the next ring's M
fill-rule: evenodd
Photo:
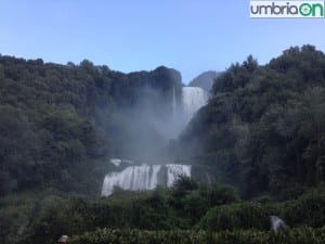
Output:
M239 202L226 185L197 184L183 195L172 189L131 192L89 200L57 191L3 197L0 201L1 237L9 243L55 243L62 234L82 235L96 228L114 230L234 231L269 230L271 215L288 227L321 228L325 223L324 189L296 200L273 202L269 196ZM219 198L219 201L217 201Z

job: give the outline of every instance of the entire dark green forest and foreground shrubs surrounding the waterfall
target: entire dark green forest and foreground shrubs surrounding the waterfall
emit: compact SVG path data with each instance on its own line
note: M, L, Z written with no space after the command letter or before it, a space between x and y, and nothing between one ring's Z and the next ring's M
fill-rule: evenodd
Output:
M132 110L164 121L181 88L162 66L123 74L0 55L0 243L323 243L325 54L312 46L231 65L157 154L212 183L180 176L170 189L99 197L109 158L141 156L126 146ZM295 229L266 232L270 215Z

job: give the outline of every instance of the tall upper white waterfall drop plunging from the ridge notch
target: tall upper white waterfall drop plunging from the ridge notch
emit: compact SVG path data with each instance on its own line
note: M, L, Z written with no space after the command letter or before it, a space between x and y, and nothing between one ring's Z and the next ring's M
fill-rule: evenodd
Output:
M185 124L193 117L194 113L207 103L208 95L199 87L183 87L182 103Z

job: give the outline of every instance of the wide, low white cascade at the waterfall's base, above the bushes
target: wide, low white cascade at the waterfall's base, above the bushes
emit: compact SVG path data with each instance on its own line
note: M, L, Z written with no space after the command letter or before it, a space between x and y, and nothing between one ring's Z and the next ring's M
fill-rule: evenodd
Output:
M167 170L166 179L160 179L161 182L159 182L159 172L164 168ZM162 182L167 182L167 187L171 187L180 175L191 177L191 165L129 166L120 172L109 172L106 175L102 188L102 195L110 195L114 187L132 191L152 190L158 184L162 184Z

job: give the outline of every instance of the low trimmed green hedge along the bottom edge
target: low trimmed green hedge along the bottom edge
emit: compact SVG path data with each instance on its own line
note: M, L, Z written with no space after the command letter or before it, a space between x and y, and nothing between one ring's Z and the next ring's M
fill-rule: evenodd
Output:
M260 231L193 232L99 229L73 236L72 244L310 244L324 243L325 230L299 228L281 233Z

